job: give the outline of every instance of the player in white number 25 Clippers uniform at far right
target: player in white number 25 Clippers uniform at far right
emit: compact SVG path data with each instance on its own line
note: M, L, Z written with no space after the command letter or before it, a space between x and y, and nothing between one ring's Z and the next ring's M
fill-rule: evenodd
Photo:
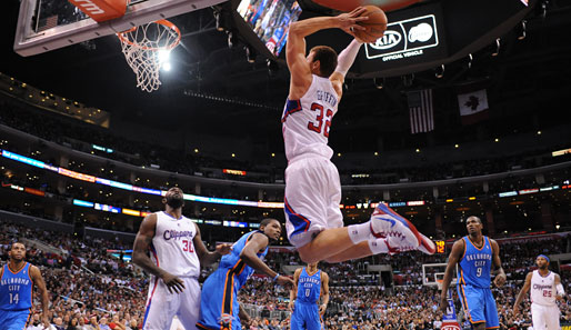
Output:
M513 303L513 314L520 312L520 303L523 296L531 288L531 320L533 330L558 330L559 308L557 300L562 300L565 294L559 274L549 270L549 258L539 254L535 259L539 269L531 271L525 277L525 283Z

